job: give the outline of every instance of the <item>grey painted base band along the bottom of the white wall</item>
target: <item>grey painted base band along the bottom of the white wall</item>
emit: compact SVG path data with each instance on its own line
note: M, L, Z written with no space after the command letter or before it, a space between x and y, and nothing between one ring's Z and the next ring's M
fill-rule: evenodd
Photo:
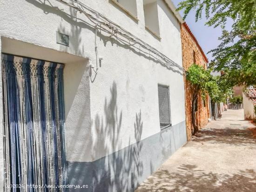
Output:
M67 162L70 191L132 192L187 142L185 121L94 162Z

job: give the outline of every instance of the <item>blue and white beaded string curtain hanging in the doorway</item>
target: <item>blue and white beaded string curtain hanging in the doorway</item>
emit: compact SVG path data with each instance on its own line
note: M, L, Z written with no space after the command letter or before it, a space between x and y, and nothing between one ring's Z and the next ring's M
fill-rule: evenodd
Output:
M63 67L2 54L6 191L66 184Z

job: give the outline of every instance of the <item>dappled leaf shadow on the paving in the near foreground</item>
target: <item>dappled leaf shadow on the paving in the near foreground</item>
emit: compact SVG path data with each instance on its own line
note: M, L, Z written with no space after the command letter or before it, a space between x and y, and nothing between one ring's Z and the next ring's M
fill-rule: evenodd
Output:
M253 192L256 172L252 169L238 173L204 172L195 165L181 165L176 172L158 170L142 183L136 192Z

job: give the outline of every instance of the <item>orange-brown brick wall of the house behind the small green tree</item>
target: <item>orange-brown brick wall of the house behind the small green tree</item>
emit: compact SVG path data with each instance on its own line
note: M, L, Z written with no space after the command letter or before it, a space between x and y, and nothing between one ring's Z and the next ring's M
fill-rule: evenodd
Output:
M207 68L208 60L202 48L196 41L193 33L189 30L186 23L181 25L181 39L182 39L182 63L185 70L189 68L194 63ZM195 52L193 54L193 52ZM185 111L186 111L186 126L187 126L187 139L190 140L192 136L192 97L193 97L193 86L189 81L186 80L184 76L184 88L185 88ZM209 118L209 98L205 99L205 106L203 105L203 99L201 94L198 97L198 111L196 112L196 122L201 128L205 126Z

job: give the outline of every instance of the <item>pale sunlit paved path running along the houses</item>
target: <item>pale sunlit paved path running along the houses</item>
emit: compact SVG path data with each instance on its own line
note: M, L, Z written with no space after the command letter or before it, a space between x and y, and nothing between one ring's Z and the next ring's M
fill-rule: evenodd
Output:
M256 192L256 137L243 110L211 121L136 192Z

